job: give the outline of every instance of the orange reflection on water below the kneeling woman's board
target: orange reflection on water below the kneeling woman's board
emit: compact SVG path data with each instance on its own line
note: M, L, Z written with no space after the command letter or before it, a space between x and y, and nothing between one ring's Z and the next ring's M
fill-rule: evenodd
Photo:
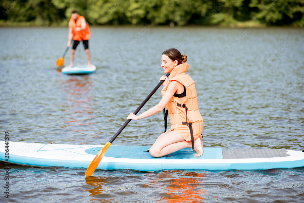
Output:
M197 190L205 180L202 177L206 173L183 173L182 171L172 171L178 173L178 176L183 176L178 179L171 179L170 186L167 187L167 196L161 197L158 201L166 201L169 203L177 202L202 202L204 199L201 194L207 194L206 190ZM187 177L185 177L187 176Z

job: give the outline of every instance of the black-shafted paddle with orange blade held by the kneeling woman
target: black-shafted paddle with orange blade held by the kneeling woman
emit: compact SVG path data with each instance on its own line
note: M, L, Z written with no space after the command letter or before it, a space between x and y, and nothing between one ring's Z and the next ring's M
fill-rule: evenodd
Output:
M167 73L167 77L170 75L170 73ZM164 82L164 80L161 80L157 86L152 90L152 92L147 96L147 98L145 100L143 100L143 102L139 105L139 107L134 111L133 114L137 114L139 112L139 110L143 107L143 105L145 105L147 103L147 101L151 98L151 96L156 92L156 90L161 86L161 84ZM109 148L109 146L112 144L112 142L117 138L117 136L121 133L121 131L123 131L123 129L130 123L131 119L128 119L125 124L123 124L123 126L119 129L119 131L116 132L116 134L112 137L112 139L107 142L105 144L105 146L96 154L95 158L93 159L93 161L91 162L91 164L89 165L87 171L85 172L85 176L91 176L92 173L95 171L95 169L97 168L98 164L100 163L102 157L105 155L105 152L107 151L107 149Z

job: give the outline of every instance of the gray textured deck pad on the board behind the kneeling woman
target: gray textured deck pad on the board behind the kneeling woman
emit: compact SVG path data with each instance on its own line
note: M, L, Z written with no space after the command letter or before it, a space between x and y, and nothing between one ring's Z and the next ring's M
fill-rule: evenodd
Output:
M224 149L223 159L254 159L290 156L281 149Z

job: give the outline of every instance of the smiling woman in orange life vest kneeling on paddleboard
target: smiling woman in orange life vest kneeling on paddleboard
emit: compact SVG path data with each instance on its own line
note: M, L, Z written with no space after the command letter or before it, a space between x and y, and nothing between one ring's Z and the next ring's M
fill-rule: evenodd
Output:
M198 109L194 81L185 73L189 67L185 63L187 56L173 48L164 51L161 60L164 72L170 72L169 78L163 75L160 79L164 80L161 101L138 116L131 113L127 119L139 120L149 117L167 106L171 129L156 139L150 148L151 156L162 157L188 147L195 150L195 156L202 156L203 119Z

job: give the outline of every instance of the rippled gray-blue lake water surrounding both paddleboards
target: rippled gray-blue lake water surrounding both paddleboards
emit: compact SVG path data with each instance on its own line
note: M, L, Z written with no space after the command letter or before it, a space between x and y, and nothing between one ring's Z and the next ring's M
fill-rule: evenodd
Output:
M105 144L164 75L161 53L175 47L188 56L205 147L304 149L303 29L91 27L97 71L85 76L57 70L67 33L0 28L3 140L7 131L16 142ZM82 44L74 63L86 63ZM160 99L159 89L140 112ZM113 145L150 146L162 131L159 113L131 121ZM96 170L87 178L86 169L9 168L9 202L304 202L304 167Z

